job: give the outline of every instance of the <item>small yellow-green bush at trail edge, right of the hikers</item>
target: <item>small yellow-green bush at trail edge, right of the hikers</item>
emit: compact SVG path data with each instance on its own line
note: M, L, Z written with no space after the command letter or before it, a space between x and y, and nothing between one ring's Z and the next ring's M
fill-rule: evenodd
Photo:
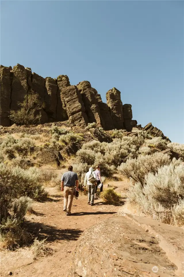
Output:
M115 192L114 188L104 189L104 191L100 193L100 197L107 204L115 205L115 206L120 205L121 195Z

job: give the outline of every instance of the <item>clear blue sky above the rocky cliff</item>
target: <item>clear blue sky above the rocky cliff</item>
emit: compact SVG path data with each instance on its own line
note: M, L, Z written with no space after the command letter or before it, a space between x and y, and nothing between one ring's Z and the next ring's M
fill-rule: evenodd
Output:
M116 87L133 119L184 140L183 1L1 1L1 64L70 83L106 101Z

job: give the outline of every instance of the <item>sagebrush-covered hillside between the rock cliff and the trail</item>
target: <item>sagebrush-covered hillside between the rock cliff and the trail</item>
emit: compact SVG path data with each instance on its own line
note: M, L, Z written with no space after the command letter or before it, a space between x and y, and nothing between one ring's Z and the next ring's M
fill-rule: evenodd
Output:
M106 203L126 203L129 213L184 225L183 144L138 128L104 131L90 123L82 129L68 121L1 127L0 144L1 248L32 239L25 227L26 215L34 201L49 199L48 187L59 192L69 164L78 174L81 190L89 167L100 165L104 183L111 180L101 194ZM123 199L115 191L114 176L130 184Z

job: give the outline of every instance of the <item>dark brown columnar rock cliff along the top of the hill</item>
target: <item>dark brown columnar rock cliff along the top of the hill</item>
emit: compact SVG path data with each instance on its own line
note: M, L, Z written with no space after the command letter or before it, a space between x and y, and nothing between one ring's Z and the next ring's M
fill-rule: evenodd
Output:
M1 122L10 126L10 110L18 110L18 102L23 102L25 95L39 94L41 123L69 120L85 127L96 122L104 130L126 129L131 131L137 125L132 120L130 104L121 101L120 91L112 88L106 93L107 103L103 103L100 94L88 81L70 85L68 76L59 75L57 79L45 79L31 68L17 64L13 67L1 65Z

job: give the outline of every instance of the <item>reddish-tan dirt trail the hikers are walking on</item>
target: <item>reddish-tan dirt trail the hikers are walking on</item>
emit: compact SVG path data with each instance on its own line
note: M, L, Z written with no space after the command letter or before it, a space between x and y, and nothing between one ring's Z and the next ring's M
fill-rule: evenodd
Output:
M35 215L27 217L29 232L39 240L47 238L48 246L55 249L52 256L33 261L30 248L1 253L1 275L11 271L16 276L66 276L77 240L90 226L116 215L119 207L103 205L95 200L95 205L87 205L87 196L80 194L73 200L72 215L66 216L63 209L63 193L57 188L49 188L50 201L34 202Z

